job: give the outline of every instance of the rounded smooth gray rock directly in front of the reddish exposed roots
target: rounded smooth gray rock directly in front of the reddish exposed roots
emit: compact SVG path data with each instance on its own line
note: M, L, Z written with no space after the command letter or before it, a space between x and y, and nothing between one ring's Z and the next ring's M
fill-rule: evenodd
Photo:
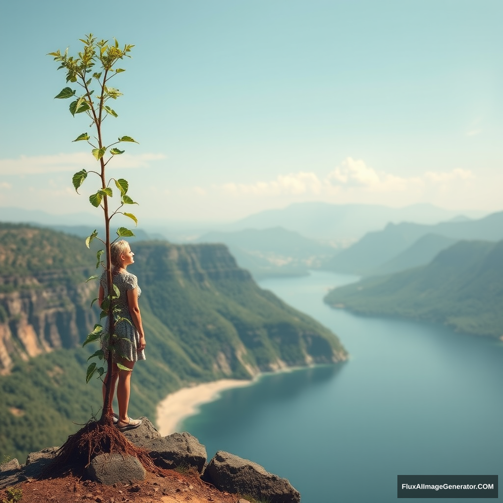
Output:
M86 475L102 484L113 485L117 482L144 480L146 471L138 458L122 456L118 453L99 454L86 468Z

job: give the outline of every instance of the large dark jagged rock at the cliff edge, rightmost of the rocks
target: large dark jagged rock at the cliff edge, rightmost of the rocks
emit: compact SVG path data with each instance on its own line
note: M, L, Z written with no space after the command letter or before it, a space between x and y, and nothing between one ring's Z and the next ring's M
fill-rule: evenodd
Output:
M249 494L270 503L299 503L300 493L286 478L228 452L218 451L204 470L203 480L221 491Z

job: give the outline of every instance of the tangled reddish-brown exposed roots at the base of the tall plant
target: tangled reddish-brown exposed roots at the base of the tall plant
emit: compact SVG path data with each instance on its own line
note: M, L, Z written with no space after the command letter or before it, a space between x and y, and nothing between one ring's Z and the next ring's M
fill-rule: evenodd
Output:
M162 470L155 466L148 451L137 447L129 441L115 426L89 421L78 432L70 435L59 448L53 461L45 467L41 477L54 477L71 472L82 476L86 467L99 454L118 453L122 456L138 458L145 470L161 474Z

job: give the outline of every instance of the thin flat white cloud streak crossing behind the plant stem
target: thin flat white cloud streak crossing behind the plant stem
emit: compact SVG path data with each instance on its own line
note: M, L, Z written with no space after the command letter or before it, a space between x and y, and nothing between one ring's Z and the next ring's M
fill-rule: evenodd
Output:
M115 156L107 165L112 169L147 167L150 162L164 159L160 153L128 154ZM55 172L71 172L99 168L98 161L90 152L59 153L54 155L21 155L17 159L0 159L0 175L34 175Z

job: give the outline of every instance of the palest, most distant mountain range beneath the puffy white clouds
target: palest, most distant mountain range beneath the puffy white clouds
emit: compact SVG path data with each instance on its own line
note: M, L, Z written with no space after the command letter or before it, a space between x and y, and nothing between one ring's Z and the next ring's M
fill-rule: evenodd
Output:
M470 217L484 213L468 212ZM430 204L414 204L390 208L372 204L295 203L283 209L261 211L238 220L225 230L284 227L303 236L331 240L346 245L365 233L382 229L387 223L403 221L434 224L459 216L459 212L444 210Z

